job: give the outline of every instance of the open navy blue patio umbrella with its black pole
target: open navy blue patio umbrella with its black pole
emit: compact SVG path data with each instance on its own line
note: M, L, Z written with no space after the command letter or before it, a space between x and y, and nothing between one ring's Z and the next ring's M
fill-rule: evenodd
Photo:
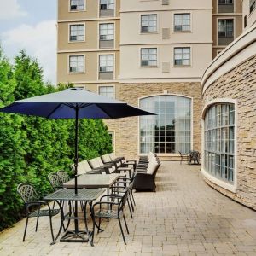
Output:
M140 108L132 107L125 102L100 96L95 93L67 89L43 96L34 96L16 101L7 107L0 108L3 113L20 113L46 119L75 119L75 194L78 194L78 137L79 119L119 119L131 116L154 115ZM75 233L79 233L78 206L75 201Z

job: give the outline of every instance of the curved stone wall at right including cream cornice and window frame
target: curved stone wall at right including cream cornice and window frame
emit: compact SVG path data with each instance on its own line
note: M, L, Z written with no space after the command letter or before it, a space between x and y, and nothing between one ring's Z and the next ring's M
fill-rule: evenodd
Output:
M202 172L214 189L253 209L256 209L255 35L256 26L253 26L237 38L235 44L207 68L201 83L204 113L218 102L233 102L236 112L234 183L212 177L207 172L206 161Z

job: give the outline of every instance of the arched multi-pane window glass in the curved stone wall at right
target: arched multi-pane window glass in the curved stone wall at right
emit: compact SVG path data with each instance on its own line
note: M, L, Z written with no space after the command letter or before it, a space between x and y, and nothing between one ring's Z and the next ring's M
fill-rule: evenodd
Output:
M227 183L234 182L235 108L234 104L217 104L205 116L204 167Z

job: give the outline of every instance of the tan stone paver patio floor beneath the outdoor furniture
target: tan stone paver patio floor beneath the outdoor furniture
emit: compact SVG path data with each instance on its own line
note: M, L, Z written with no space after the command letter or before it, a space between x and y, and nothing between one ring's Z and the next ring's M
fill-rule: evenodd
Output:
M200 166L163 162L157 191L134 193L134 218L126 218L130 235L125 246L118 222L103 221L95 247L81 243L50 246L49 219L41 218L38 232L30 219L0 234L0 255L256 255L256 213L207 186ZM59 218L54 218L55 227Z

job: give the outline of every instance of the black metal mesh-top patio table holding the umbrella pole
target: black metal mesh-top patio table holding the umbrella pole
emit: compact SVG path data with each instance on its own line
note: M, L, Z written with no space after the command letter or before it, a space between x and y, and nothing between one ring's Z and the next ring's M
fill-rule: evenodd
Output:
M86 205L89 202L90 210L91 210L92 201L96 200L100 195L103 194L103 192L104 192L104 189L78 189L78 194L75 194L74 189L59 189L54 193L44 197L44 200L46 201L56 201L61 209L61 229L63 228L65 231L65 234L60 239L61 242L90 241L90 245L93 246L93 242L91 238L93 237L94 230L92 231L88 230L87 218L86 218ZM69 212L67 212L67 214L65 215L63 212L63 204L62 204L63 201L84 201L85 205L84 205L83 217L79 217L79 216L74 217L71 209L69 209ZM65 228L64 221L66 219L68 220L68 224L67 224L67 227ZM71 219L73 220L83 219L85 224L85 231L84 230L67 230ZM55 241L58 239L60 234L61 234L61 230L58 233L58 235L55 237ZM79 237L79 239L77 237ZM51 244L54 244L55 241L53 241Z

